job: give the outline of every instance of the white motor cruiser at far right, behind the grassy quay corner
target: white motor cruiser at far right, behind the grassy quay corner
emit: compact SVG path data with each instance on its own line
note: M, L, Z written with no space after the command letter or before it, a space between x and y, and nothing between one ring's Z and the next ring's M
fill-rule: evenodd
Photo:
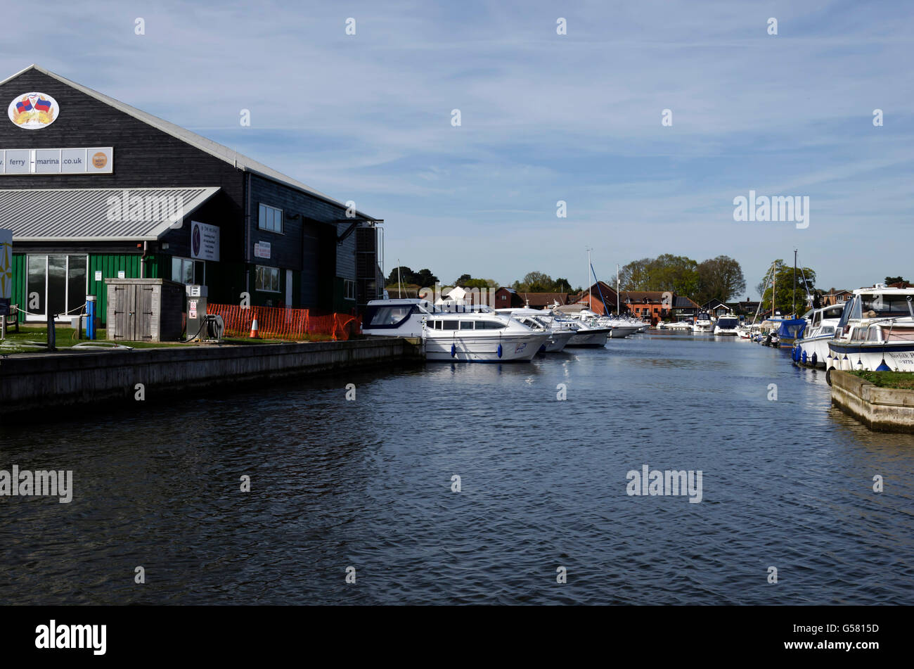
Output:
M828 349L828 369L914 372L914 288L854 291Z

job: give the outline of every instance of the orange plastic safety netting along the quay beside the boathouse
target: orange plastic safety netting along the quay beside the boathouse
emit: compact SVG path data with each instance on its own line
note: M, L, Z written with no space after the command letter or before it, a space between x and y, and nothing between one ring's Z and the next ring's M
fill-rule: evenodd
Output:
M207 313L222 316L225 335L250 336L250 326L257 319L257 334L264 339L305 339L316 336L332 337L334 341L347 340L357 335L362 319L345 313L314 316L309 309L288 307L232 306L207 304Z

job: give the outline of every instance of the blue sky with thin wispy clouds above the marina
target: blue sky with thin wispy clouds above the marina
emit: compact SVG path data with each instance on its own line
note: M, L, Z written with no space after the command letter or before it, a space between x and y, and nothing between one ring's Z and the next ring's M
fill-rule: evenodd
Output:
M355 200L388 270L726 254L754 295L796 247L820 287L914 280L906 3L0 2L4 77L35 62ZM809 227L735 222L749 190L809 196Z

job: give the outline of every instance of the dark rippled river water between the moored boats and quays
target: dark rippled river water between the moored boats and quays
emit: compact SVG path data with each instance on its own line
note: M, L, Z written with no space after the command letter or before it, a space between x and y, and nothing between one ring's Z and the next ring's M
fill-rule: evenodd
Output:
M74 493L0 497L0 603L914 602L914 436L734 339L7 421L13 464ZM627 494L643 465L701 471L701 502Z

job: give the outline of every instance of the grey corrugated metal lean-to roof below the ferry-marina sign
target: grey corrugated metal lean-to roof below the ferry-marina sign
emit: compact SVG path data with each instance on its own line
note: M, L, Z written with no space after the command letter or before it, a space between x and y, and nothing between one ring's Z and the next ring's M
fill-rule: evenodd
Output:
M153 241L181 228L218 188L0 189L13 241Z

